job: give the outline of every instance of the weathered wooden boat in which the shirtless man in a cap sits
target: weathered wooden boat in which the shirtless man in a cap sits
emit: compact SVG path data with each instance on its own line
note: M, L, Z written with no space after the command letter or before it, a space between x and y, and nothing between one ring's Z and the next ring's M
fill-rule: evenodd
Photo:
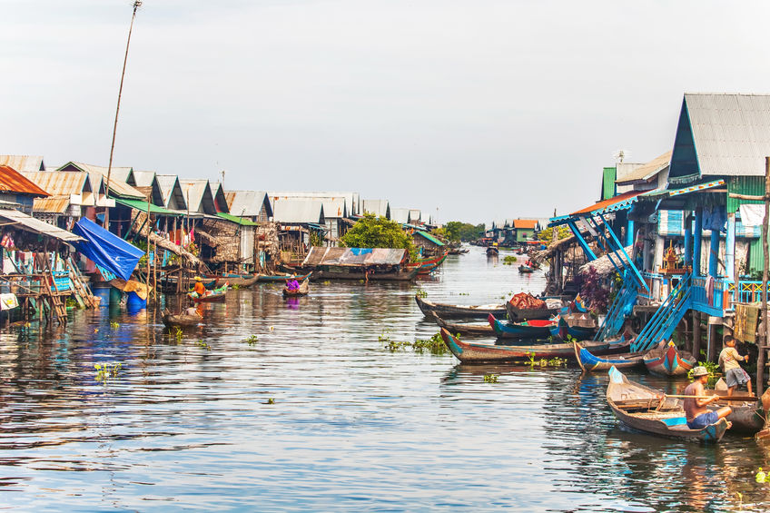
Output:
M609 370L607 404L628 428L660 437L716 442L727 429L726 419L704 429L687 428L681 400L628 380L614 367Z

